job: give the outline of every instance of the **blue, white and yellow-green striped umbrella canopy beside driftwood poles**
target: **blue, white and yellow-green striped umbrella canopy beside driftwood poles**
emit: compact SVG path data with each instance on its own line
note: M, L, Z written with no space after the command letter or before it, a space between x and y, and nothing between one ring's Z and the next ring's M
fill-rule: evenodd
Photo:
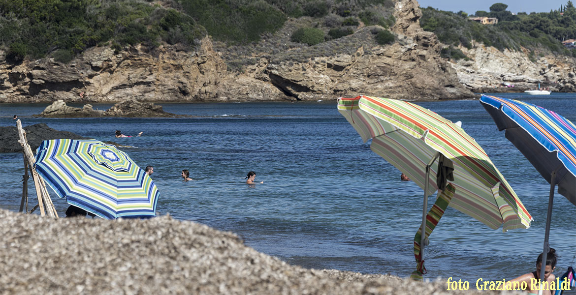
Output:
M125 152L98 140L44 140L36 171L68 204L104 219L156 216L160 192Z

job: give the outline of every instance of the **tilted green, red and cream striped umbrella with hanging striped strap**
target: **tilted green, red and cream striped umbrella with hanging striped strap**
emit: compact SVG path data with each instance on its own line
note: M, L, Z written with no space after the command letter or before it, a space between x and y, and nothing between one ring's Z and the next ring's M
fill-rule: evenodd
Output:
M492 229L529 228L532 216L486 152L464 129L431 110L406 101L359 96L339 98L338 110L370 148L424 190L422 227L416 233L418 263L413 278L426 273L423 250L446 206ZM427 212L427 196L439 190ZM426 228L425 235L421 234Z

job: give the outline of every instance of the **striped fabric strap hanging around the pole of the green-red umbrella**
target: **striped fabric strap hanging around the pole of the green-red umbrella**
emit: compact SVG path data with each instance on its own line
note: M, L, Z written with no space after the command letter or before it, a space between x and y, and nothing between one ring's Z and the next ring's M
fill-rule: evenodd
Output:
M434 231L436 225L438 225L438 221L442 218L446 208L448 208L448 204L452 197L454 197L454 192L456 188L452 185L452 183L448 183L446 185L446 189L442 190L442 193L438 195L436 198L436 202L426 215L426 232L425 238L427 239L430 236L430 233ZM416 232L414 236L414 257L416 258L416 270L412 272L410 275L411 279L415 280L422 280L423 275L426 274L426 267L424 266L424 259L422 259L422 255L420 255L420 239L422 238L422 226Z

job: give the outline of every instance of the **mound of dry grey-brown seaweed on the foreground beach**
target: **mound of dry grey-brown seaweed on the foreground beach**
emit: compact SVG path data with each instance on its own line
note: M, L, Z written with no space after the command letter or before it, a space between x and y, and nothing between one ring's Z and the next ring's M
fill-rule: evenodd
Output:
M445 282L292 266L234 233L169 216L54 220L0 209L0 222L1 294L455 293Z

